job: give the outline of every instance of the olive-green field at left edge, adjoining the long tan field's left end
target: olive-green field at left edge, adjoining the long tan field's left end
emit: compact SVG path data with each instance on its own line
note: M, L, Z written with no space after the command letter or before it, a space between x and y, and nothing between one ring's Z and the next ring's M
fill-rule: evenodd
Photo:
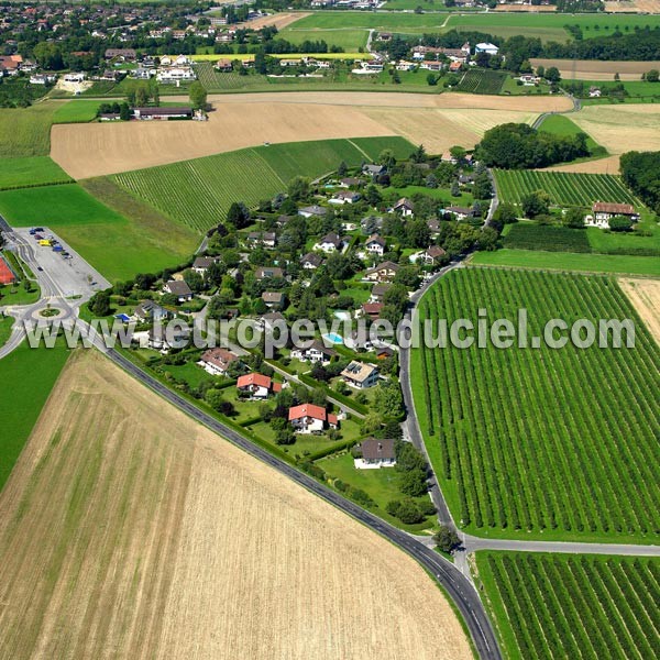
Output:
M54 101L44 101L30 108L0 108L0 157L48 155L57 107Z

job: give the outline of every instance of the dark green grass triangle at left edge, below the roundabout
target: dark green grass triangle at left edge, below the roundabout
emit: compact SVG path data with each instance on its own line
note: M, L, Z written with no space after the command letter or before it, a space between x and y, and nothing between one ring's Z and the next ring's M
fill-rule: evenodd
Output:
M67 356L68 350L63 344L54 349L30 349L23 342L0 360L0 383L3 384L0 490L9 479Z

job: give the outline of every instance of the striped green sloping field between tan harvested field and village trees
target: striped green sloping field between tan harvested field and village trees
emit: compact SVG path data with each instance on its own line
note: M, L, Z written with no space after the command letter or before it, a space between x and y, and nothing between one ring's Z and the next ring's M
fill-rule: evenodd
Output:
M127 191L167 217L204 232L217 224L234 201L255 206L285 190L295 175L319 177L341 161L358 166L386 147L399 157L413 145L402 138L363 138L273 144L205 158L113 175Z

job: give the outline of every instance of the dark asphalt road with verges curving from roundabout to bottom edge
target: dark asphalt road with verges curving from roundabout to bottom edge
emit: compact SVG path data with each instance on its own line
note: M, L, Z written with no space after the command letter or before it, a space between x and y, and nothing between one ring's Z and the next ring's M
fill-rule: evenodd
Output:
M222 422L201 411L199 408L180 397L175 392L168 389L165 385L161 384L147 373L143 372L139 366L133 364L130 360L117 351L112 349L107 350L105 348L101 348L101 351L133 377L138 378L148 388L156 392L164 399L189 415L195 420L222 436L263 463L266 463L278 472L285 474L290 480L295 481L315 495L322 497L374 531L377 531L380 535L384 536L387 540L393 542L395 546L398 546L402 550L416 559L430 574L435 576L435 579L442 585L450 598L453 601L454 605L463 616L480 658L483 660L496 660L502 658L495 634L482 605L479 593L472 583L466 580L466 578L453 564L443 559L435 550L430 550L417 541L410 535L397 529L396 527L393 527L392 525L388 525L381 518L370 514L356 504L353 504L338 493L323 486L311 476L296 470L288 463L275 458L266 450L250 442L250 440L244 439L233 429L224 426ZM429 613L429 616L432 616L432 613Z

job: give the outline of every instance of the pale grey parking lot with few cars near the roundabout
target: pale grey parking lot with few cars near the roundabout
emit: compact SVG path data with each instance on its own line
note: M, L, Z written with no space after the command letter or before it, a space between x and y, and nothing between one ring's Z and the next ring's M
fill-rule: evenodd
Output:
M31 266L36 267L37 279L42 279L42 273L47 274L55 288L58 289L58 294L66 298L81 296L82 299L88 299L96 292L110 286L110 283L67 243L63 242L47 227L43 229L44 231L38 232L38 235L44 240L53 238L62 246L62 252L54 251L53 246L40 245L38 240L30 234L30 228L14 229L14 233L21 241L32 249L29 252L32 252L34 260L29 260L29 262L34 261ZM64 256L64 252L68 255Z

